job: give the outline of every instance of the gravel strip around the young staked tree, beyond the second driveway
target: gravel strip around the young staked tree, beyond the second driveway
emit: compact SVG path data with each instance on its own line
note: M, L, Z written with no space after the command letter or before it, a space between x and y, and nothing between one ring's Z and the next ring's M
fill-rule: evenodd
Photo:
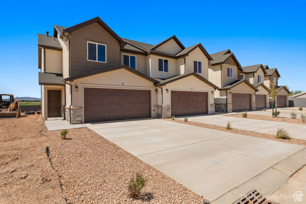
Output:
M226 115L228 117L240 117L242 118L241 114L234 114L234 115ZM263 115L253 115L248 114L246 118L249 119L256 119L256 120L263 120L263 121L276 121L276 122L283 122L283 123L295 123L295 124L302 124L306 125L306 122L302 122L302 120L297 116L297 119L292 119L289 117L272 117L272 116L263 116Z

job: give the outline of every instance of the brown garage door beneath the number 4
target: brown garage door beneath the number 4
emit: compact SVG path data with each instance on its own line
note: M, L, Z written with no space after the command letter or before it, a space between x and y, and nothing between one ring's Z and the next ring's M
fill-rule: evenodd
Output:
M207 92L171 91L171 116L208 113Z

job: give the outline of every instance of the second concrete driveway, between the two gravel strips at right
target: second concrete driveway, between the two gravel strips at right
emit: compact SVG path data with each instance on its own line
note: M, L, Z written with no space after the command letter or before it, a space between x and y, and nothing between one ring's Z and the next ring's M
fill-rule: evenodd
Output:
M256 111L249 112L248 114L254 112ZM267 112L262 111L262 113L266 114ZM231 114L237 113L217 113L214 115L188 116L188 121L218 125L222 127L226 127L227 121L230 121L232 122L231 125L233 126L233 128L253 132L261 132L271 135L275 135L277 129L282 127L289 132L292 138L306 140L306 125L226 116ZM177 119L183 120L183 117L177 117Z

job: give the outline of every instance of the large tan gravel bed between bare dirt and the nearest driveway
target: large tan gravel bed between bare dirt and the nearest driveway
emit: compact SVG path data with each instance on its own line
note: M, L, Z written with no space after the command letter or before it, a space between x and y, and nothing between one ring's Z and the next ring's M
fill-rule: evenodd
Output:
M69 129L66 140L60 132L47 132L49 157L68 202L204 203L203 197L88 128ZM136 172L148 180L139 200L129 198L127 190Z

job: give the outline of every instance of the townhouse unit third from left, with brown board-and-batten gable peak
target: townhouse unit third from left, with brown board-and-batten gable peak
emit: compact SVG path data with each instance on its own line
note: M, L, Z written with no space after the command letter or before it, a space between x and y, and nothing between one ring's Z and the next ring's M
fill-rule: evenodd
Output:
M255 93L259 91L246 80L240 63L230 50L211 54L208 80L218 86L215 91L215 110L235 112L255 110Z

